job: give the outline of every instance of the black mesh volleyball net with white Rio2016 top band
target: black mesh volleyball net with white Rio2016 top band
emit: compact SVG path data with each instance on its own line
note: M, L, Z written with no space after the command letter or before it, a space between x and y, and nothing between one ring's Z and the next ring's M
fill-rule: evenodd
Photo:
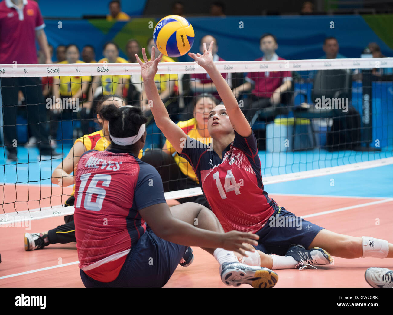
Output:
M393 163L393 58L216 65L257 137L264 184ZM53 170L75 140L103 128L97 105L114 94L149 118L141 159L162 176L165 198L202 194L154 122L138 63L0 65L0 79L0 225L73 213L64 206L72 185L53 183ZM155 81L171 119L208 141L205 118L220 98L206 71L162 62ZM86 149L97 145L96 137L84 139ZM42 158L43 148L63 156Z

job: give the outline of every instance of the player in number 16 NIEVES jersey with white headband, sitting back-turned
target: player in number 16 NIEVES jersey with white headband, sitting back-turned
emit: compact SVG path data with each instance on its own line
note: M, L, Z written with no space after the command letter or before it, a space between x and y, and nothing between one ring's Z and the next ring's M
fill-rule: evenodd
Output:
M233 253L245 254L257 235L224 233L217 217L199 204L169 209L158 172L137 158L146 139L140 108L109 105L101 114L111 147L85 152L75 177L75 236L85 287L162 287L188 245L214 255L227 285L275 285L275 272L239 263Z

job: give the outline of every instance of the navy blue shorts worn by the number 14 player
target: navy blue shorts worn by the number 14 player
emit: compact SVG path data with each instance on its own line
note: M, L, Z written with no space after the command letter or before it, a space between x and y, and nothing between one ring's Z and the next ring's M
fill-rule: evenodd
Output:
M278 207L266 225L255 233L259 235L259 244L254 247L266 254L285 256L292 244L302 245L307 249L314 237L323 229L296 217L283 207Z

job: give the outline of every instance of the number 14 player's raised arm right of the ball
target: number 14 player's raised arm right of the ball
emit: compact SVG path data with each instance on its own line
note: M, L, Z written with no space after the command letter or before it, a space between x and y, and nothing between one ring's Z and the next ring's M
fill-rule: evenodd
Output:
M226 112L228 114L229 119L231 120L231 124L233 129L242 137L249 137L251 135L251 127L248 123L246 117L242 113L239 104L237 104L237 100L233 95L231 88L229 87L228 83L222 77L221 73L215 66L213 62L213 55L211 53L213 49L213 43L210 43L209 49L206 49L206 43L203 43L204 54L193 54L189 53L188 56L193 58L195 61L198 62L198 65L203 67L206 72L208 72L211 80L213 80L214 85L216 86L217 92L224 102L224 106Z

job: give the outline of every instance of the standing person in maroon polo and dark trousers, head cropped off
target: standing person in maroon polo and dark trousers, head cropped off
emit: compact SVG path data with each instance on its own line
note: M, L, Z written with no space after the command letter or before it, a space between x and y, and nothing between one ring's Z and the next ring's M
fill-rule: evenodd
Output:
M35 39L39 43L45 62L51 63L48 41L44 32L37 2L31 0L4 0L0 2L0 63L38 63ZM1 95L4 124L4 142L7 160L17 161L17 147L13 146L17 134L16 117L18 91L26 99L28 124L37 138L40 158L59 156L51 149L49 133L45 126L46 105L39 78L1 78Z

